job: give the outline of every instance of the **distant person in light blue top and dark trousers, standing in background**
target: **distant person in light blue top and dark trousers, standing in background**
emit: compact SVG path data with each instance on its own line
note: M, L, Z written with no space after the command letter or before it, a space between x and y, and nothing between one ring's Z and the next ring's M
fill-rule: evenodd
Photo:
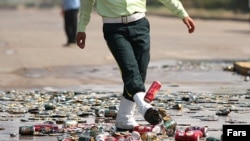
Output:
M67 42L63 46L70 47L76 44L76 32L80 0L62 0L62 15L64 19L64 31Z

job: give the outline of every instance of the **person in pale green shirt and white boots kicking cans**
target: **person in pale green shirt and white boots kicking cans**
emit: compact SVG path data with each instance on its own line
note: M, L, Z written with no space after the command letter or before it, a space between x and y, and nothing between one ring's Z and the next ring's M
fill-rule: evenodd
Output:
M195 30L195 22L179 0L159 0L180 17L189 33ZM118 131L133 130L138 123L134 119L136 105L144 119L151 125L162 122L159 111L144 101L145 80L150 61L150 24L145 15L146 0L82 0L77 29L77 45L83 49L86 26L96 2L97 13L102 17L103 36L120 68L123 95L116 117Z

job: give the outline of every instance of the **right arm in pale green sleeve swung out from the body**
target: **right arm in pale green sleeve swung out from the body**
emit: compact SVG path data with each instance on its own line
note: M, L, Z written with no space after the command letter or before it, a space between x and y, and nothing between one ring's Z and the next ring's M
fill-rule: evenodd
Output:
M188 28L189 33L193 33L195 30L195 23L188 15L187 11L183 7L179 0L159 0L164 6L166 6L172 13L182 19L184 24Z

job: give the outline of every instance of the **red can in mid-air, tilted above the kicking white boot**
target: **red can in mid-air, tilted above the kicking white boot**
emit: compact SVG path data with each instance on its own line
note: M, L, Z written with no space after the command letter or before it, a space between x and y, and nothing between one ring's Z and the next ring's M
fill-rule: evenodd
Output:
M161 82L159 81L154 81L151 86L149 87L145 97L144 97L144 100L148 103L151 103L155 96L156 96L156 93L160 90L161 88Z

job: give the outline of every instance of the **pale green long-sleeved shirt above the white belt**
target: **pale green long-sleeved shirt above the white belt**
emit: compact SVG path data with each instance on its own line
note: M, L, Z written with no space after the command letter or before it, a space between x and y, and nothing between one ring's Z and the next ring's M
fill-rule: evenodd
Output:
M97 13L102 17L118 18L135 12L146 12L147 0L81 0L78 32L85 32L96 1ZM176 16L184 18L188 13L179 0L158 0Z

